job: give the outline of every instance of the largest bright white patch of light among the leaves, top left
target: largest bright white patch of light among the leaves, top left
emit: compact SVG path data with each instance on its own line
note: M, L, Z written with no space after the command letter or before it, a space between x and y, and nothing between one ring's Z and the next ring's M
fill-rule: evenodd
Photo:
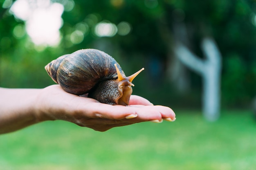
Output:
M56 46L61 41L59 29L63 25L63 4L50 0L17 0L10 11L16 18L25 21L27 34L34 44ZM21 37L20 27L14 29L13 34Z

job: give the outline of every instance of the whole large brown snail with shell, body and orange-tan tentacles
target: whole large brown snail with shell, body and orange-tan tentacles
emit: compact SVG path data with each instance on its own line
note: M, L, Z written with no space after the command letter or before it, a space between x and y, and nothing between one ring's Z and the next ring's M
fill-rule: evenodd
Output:
M65 54L45 66L45 70L66 92L88 94L110 105L129 105L132 80L144 68L126 77L113 57L96 49Z

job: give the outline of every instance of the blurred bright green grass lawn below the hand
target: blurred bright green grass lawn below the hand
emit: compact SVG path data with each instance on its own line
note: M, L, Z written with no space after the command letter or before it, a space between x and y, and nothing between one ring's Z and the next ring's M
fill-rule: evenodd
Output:
M97 132L64 121L0 135L1 170L253 170L256 121L224 111L217 122L176 111L175 122Z

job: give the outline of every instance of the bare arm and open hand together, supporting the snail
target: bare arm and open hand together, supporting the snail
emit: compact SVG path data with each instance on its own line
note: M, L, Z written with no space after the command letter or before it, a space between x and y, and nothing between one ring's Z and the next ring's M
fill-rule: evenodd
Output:
M64 92L59 85L44 89L0 88L0 134L47 120L65 120L95 131L139 122L174 121L169 107L154 106L132 95L130 105L107 105L92 98Z

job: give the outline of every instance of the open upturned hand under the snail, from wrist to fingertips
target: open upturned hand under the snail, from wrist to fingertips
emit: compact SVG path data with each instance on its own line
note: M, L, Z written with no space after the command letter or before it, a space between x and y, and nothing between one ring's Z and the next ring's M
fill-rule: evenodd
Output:
M130 105L107 105L88 97L64 92L59 85L41 89L36 101L39 121L65 120L96 131L138 122L175 120L169 107L154 106L145 98L132 95Z

